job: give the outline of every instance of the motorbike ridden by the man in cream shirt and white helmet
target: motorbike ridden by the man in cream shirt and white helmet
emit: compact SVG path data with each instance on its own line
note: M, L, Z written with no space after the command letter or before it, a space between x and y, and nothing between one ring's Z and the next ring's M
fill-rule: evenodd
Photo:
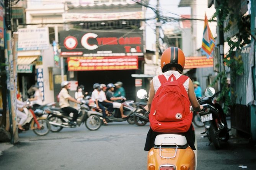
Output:
M101 127L102 118L101 113L90 110L88 106L88 100L82 100L80 109L78 109L77 125L70 125L68 122L72 120L72 117L62 111L60 108L50 107L48 109L49 115L47 120L51 124L52 132L60 132L62 128L76 128L80 127L81 124L85 123L86 128L89 130L98 130Z

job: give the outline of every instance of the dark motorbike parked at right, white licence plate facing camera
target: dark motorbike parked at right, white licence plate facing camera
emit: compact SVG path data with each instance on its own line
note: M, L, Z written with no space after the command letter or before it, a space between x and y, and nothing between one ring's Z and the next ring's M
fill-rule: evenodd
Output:
M215 92L214 88L212 91ZM208 137L210 143L213 143L216 149L220 149L220 141L228 141L230 129L222 107L213 102L214 96L209 96L207 92L205 92L205 96L206 98L201 101L204 109L199 112L205 128L205 132L201 134L206 134L204 137Z

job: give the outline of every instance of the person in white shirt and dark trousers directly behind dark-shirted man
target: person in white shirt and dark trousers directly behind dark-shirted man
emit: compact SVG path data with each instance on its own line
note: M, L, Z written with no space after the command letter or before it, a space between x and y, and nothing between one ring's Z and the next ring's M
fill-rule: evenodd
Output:
M105 91L107 90L107 87L105 84L101 84L100 87L101 91L99 92L99 99L98 102L102 104L103 106L107 107L108 109L106 110L106 115L111 116L111 111L113 111L113 102L108 101L106 98L106 93Z

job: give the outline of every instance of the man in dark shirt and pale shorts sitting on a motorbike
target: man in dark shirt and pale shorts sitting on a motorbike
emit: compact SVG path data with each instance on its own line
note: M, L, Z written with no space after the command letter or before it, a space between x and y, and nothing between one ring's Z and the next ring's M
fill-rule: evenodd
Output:
M121 117L122 117L122 118L126 118L127 115L124 115L124 108L123 108L122 103L113 102L113 101L116 101L116 100L122 100L122 99L123 99L122 97L114 97L114 96L113 96L114 87L115 87L115 85L114 85L113 83L108 83L107 88L108 88L109 90L106 92L106 98L107 98L108 101L111 101L111 102L112 102L113 108L120 109Z

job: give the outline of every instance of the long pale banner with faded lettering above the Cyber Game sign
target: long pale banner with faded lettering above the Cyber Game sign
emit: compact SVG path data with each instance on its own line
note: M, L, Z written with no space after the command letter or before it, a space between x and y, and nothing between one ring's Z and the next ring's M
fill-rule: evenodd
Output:
M143 19L143 11L120 13L63 13L64 21L111 21L116 19Z

